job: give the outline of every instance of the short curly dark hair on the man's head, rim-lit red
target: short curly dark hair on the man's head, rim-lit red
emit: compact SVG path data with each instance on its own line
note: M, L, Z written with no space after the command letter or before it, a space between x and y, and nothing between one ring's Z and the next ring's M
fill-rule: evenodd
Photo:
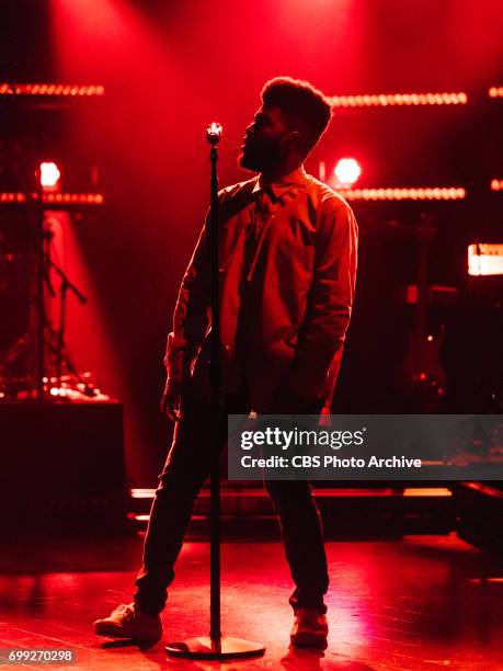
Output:
M261 99L264 106L279 107L293 124L301 124L301 141L306 156L323 135L332 118L332 105L328 98L301 79L275 77L264 84Z

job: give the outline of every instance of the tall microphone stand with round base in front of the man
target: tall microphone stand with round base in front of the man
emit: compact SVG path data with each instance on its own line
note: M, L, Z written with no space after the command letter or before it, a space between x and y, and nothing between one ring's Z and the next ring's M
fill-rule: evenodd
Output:
M218 441L220 409L220 305L218 289L218 152L216 146L221 137L221 126L213 123L206 129L206 138L212 145L209 249L212 266L212 363L210 407L213 418L213 440ZM215 445L217 447L217 445ZM188 638L181 642L169 644L168 655L192 659L230 659L263 655L265 647L260 642L222 636L220 632L220 460L219 451L213 451L210 471L210 624L209 636Z

